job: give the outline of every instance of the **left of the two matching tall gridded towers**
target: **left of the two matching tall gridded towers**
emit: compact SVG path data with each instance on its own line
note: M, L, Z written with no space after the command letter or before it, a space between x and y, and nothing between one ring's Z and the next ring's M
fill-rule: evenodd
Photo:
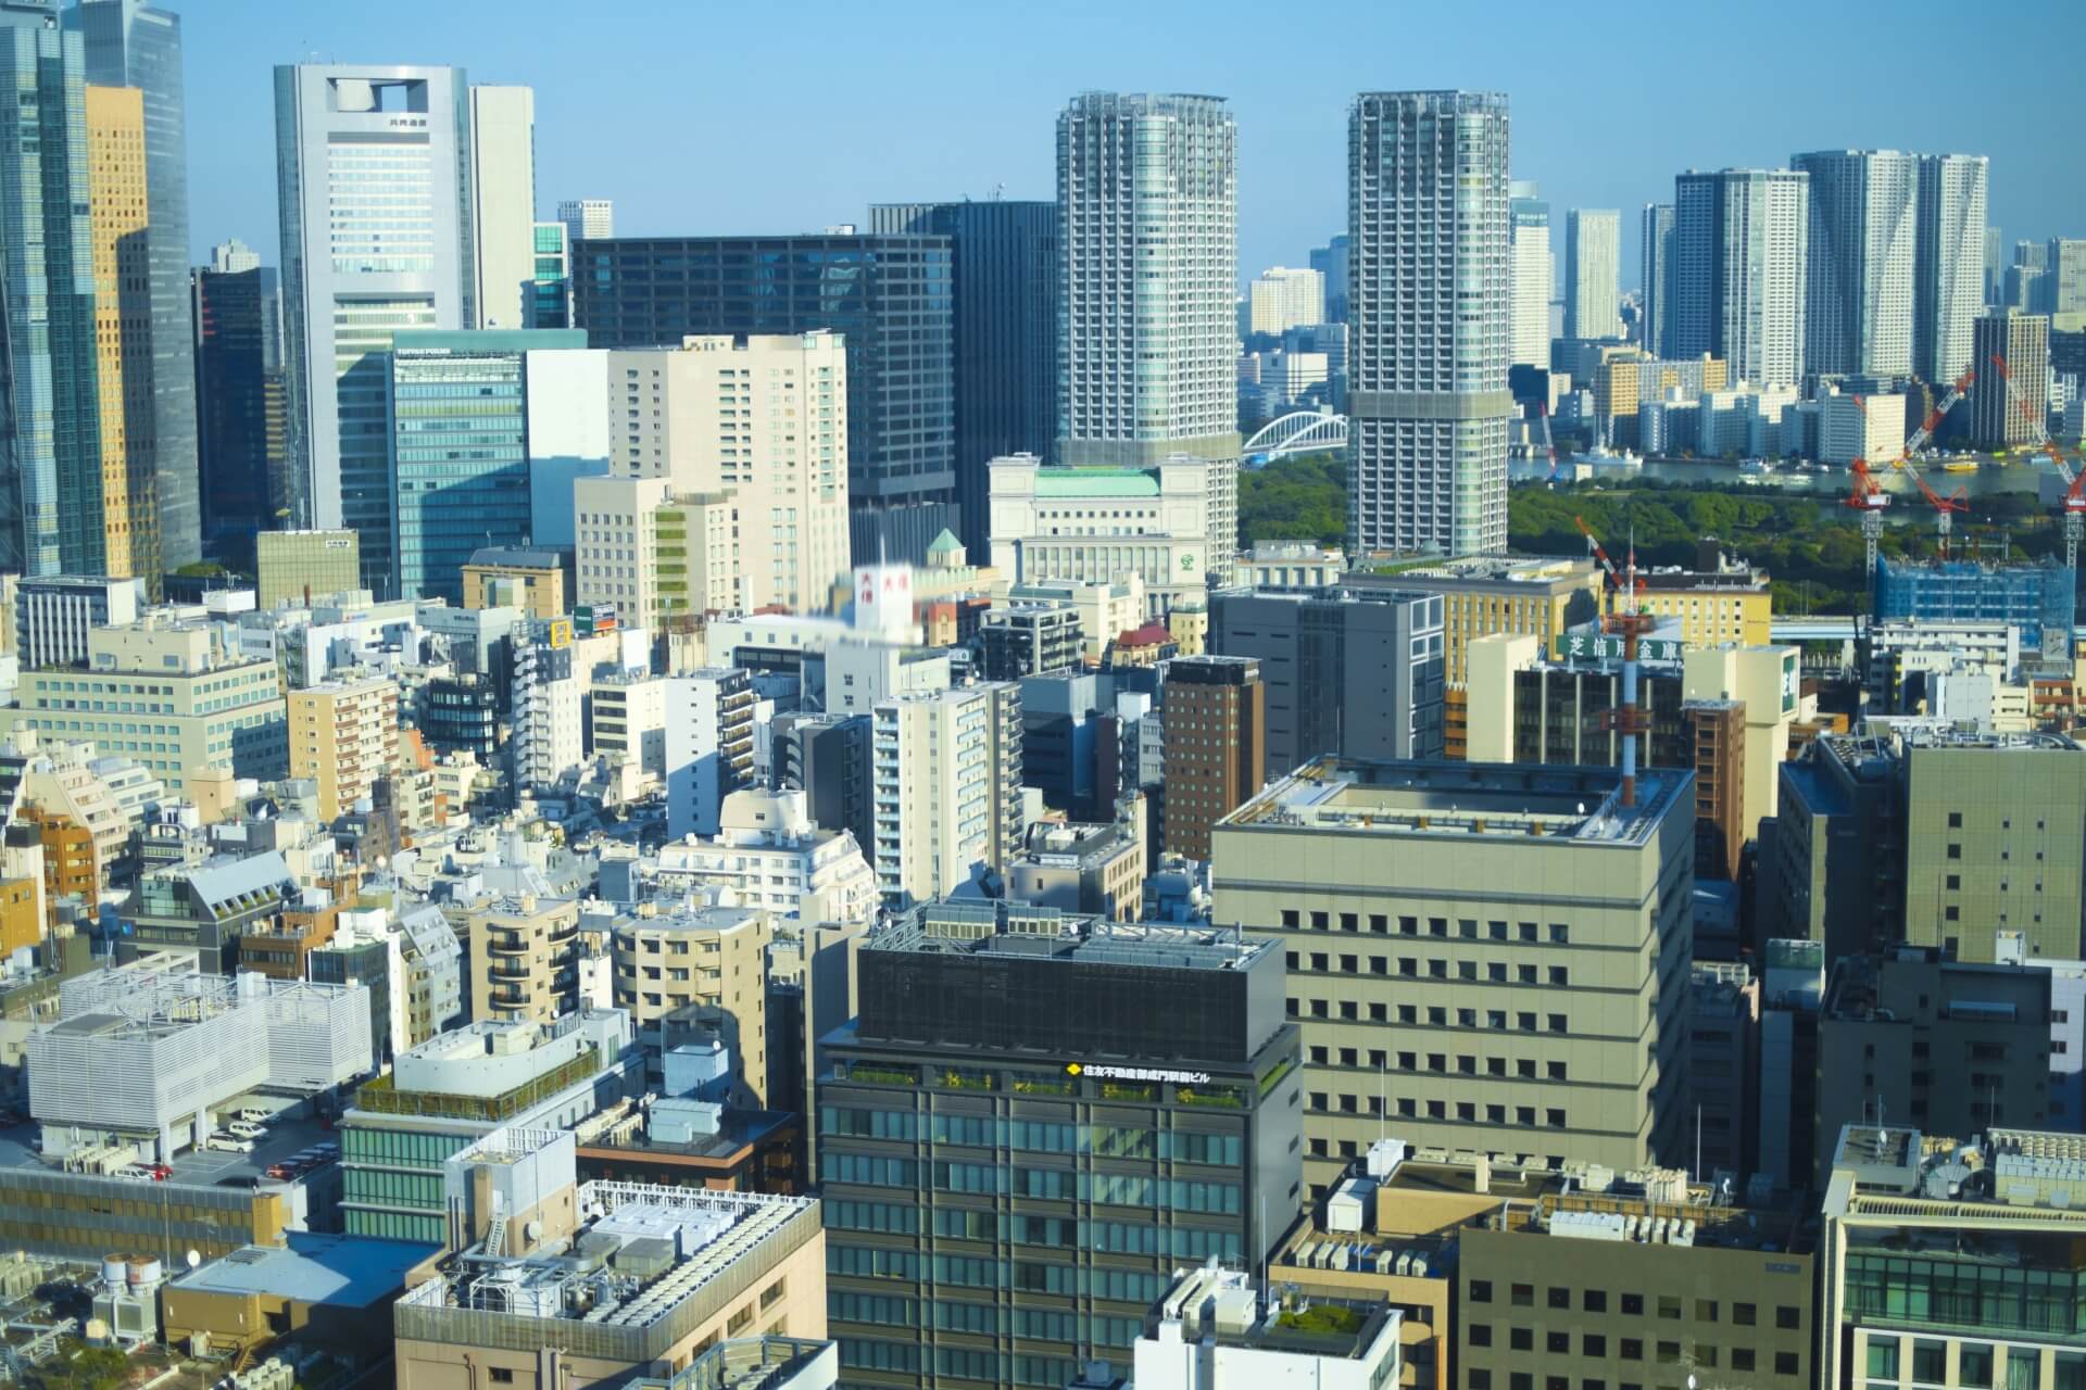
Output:
M1237 127L1220 98L1058 115L1058 456L1239 456Z

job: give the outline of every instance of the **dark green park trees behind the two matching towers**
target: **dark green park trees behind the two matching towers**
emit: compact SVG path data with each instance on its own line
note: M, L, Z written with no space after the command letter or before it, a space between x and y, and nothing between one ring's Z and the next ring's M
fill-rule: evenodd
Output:
M1341 544L1348 496L1337 454L1281 458L1239 477L1239 544L1316 540ZM1867 606L1857 513L1834 496L1765 488L1665 483L1642 477L1583 483L1523 483L1508 494L1508 544L1514 554L1585 554L1575 517L1623 561L1694 567L1698 542L1717 538L1773 577L1779 613L1857 613ZM1934 515L1898 498L1884 529L1886 556L1934 554ZM2015 559L2042 559L2059 531L2034 494L2003 492L1971 500L1955 519L1957 548L1978 544L1996 559L2000 538Z

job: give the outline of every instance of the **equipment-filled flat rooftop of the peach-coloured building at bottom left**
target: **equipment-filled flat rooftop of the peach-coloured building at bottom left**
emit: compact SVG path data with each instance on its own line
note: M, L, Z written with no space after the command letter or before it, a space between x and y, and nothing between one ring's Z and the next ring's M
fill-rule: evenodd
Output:
M588 1182L578 1207L582 1227L555 1252L474 1246L407 1290L398 1340L653 1361L818 1236L805 1196Z

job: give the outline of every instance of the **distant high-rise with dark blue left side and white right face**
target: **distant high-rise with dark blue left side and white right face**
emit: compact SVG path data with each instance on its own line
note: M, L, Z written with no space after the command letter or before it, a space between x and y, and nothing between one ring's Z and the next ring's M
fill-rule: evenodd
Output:
M1673 358L1704 352L1752 386L1804 375L1811 175L1723 169L1673 179Z

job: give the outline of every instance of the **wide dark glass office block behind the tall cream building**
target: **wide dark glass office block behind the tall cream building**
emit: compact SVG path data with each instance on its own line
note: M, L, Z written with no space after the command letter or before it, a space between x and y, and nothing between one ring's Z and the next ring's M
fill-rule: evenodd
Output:
M920 565L957 527L949 238L580 240L572 267L574 323L595 348L843 333L855 563Z

